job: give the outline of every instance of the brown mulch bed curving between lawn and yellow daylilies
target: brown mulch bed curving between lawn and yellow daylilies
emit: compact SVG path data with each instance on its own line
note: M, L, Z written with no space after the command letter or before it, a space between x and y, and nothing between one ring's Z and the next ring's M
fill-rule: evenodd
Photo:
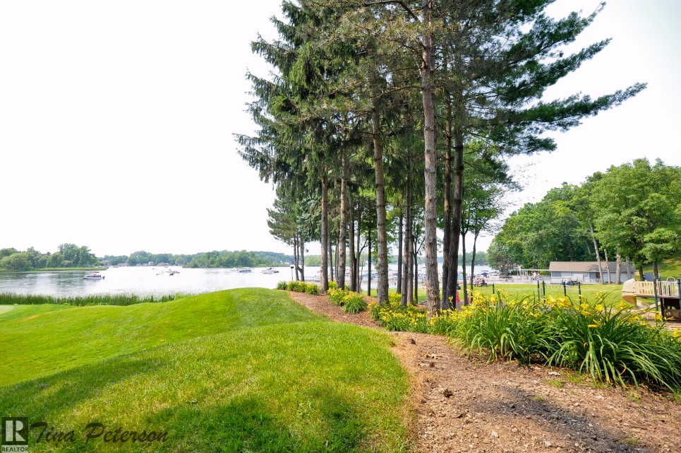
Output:
M338 322L381 329L325 296L291 298ZM416 452L681 453L670 394L592 384L569 370L468 358L442 336L389 332L412 375Z

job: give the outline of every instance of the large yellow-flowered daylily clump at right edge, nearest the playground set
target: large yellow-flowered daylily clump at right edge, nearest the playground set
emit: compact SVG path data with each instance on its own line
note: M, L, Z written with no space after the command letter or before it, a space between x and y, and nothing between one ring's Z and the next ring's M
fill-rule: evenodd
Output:
M642 319L622 302L565 302L550 311L548 365L572 367L599 382L646 382L681 391L681 341ZM551 304L551 300L548 300Z

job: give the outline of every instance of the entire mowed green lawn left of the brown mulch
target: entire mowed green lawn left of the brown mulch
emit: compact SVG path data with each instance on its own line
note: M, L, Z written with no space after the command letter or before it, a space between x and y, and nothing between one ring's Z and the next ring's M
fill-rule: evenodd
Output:
M393 452L408 441L408 378L390 337L279 291L15 306L0 331L18 344L4 348L0 413L76 433L35 443L33 432L31 451ZM92 421L168 440L85 444Z

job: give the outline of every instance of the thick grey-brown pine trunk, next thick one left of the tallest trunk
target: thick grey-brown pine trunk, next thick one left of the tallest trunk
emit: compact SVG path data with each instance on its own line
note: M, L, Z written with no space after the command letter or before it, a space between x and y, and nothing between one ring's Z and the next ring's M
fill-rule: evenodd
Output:
M383 145L380 138L380 117L374 101L371 112L373 129L373 166L375 170L376 189L376 240L378 241L378 259L376 260L376 299L378 303L388 300L388 257L387 257L387 221L385 219L385 177L383 175ZM369 276L371 280L371 276Z

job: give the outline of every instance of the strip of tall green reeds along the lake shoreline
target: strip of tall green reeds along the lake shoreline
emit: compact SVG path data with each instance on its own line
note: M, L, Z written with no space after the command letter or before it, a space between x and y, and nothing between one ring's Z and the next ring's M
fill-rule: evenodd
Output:
M149 302L169 302L188 297L188 294L171 294L162 296L140 297L134 294L92 294L76 295L55 298L52 295L42 294L14 294L0 293L0 305L73 305L74 307L86 307L88 305L135 305Z

